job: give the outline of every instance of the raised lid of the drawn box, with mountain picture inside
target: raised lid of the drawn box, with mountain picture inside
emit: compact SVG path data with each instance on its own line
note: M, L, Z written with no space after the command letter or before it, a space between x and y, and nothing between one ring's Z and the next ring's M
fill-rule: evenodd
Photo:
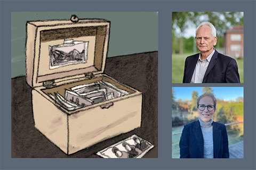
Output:
M29 86L103 73L109 28L110 21L76 16L70 20L27 22L26 80Z

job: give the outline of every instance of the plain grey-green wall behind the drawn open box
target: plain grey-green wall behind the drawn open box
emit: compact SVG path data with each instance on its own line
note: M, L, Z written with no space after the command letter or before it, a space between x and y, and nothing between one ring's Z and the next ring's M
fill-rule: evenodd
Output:
M25 75L26 22L69 19L73 14L111 22L107 57L158 50L157 12L12 12L12 78Z

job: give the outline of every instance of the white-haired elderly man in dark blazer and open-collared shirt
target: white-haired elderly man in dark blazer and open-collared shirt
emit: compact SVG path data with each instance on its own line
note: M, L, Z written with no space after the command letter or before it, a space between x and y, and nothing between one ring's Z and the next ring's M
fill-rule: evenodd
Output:
M240 83L234 58L218 53L213 47L217 37L210 22L198 25L195 38L201 53L186 58L183 83Z

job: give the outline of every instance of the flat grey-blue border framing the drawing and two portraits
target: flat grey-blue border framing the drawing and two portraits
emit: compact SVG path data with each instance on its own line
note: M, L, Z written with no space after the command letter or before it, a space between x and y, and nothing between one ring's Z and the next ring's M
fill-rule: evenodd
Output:
M254 167L255 159L255 10L252 1L5 1L1 5L1 157L3 169L244 169ZM159 109L158 158L155 159L22 159L11 158L11 12L20 11L158 11ZM173 11L243 11L244 12L244 84L218 86L244 87L244 159L172 159L171 107L172 86L191 86L171 83L171 14ZM171 85L171 87L170 87ZM217 86L217 84L205 84ZM2 169L1 167L1 169Z

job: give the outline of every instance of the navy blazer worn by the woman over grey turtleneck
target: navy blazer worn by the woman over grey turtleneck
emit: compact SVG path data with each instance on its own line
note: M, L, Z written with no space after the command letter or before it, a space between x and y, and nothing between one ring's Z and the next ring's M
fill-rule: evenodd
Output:
M213 158L229 158L226 126L212 122ZM204 138L199 121L184 126L180 137L180 158L204 158Z

